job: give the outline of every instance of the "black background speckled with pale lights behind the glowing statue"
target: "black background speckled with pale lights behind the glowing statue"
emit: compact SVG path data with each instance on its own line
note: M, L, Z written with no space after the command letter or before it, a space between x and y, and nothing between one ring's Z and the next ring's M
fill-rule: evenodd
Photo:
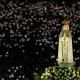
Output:
M57 65L58 39L70 20L75 66L80 65L80 2L0 0L0 80L34 80Z

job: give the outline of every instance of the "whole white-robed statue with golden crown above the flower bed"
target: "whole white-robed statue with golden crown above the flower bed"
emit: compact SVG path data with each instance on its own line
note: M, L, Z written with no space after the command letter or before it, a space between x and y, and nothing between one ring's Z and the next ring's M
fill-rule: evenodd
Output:
M64 20L62 31L59 35L58 64L73 64L72 36L69 30L69 21Z

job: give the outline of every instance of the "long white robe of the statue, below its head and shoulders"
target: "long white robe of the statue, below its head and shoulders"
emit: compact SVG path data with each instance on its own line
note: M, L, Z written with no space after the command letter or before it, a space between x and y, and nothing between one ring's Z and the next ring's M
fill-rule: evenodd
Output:
M67 36L64 41L63 36L59 36L58 63L73 63L72 36ZM64 45L65 44L65 45Z

